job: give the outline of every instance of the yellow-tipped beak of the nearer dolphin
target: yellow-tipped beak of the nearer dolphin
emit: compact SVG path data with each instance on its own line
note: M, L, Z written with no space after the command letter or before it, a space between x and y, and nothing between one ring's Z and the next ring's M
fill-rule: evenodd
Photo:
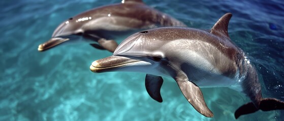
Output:
M124 56L109 56L94 61L90 66L90 70L94 73L114 72L114 71L142 72L143 68L137 68L137 67L140 66L144 67L146 65L151 65L151 63Z

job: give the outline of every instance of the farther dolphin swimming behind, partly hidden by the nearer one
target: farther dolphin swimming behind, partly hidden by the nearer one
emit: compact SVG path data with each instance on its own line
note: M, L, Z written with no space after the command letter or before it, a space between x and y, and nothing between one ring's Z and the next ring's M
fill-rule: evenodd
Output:
M121 4L94 8L62 22L53 32L52 38L40 44L38 50L45 51L60 43L83 37L93 47L113 52L118 46L114 41L118 36L126 37L142 29L163 26L186 25L146 6L142 0L123 0Z

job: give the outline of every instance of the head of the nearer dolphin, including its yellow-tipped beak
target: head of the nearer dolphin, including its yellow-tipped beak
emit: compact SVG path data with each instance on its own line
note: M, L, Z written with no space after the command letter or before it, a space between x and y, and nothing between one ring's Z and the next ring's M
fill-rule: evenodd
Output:
M142 31L123 40L113 53L103 59L94 61L90 70L94 73L102 72L141 72L157 76L170 76L167 51L164 51L163 36L155 31Z

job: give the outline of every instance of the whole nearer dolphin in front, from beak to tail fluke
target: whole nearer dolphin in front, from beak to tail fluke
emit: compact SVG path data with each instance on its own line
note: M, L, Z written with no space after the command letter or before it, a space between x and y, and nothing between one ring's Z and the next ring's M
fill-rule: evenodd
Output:
M161 76L173 78L184 97L201 114L213 117L199 87L229 87L245 93L251 102L235 117L284 109L275 98L263 98L256 69L228 35L232 14L220 18L209 31L185 27L162 27L135 33L124 39L112 56L94 61L90 70L146 73L149 95L162 102Z

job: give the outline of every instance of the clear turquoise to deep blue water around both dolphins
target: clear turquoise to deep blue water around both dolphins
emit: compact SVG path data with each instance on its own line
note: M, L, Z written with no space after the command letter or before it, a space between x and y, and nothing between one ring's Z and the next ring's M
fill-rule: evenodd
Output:
M173 79L164 78L159 103L147 94L144 74L90 72L91 62L111 55L108 51L86 44L37 51L62 21L119 2L1 1L0 120L234 120L235 110L250 100L229 88L202 88L214 113L207 118L186 101ZM229 35L256 66L263 96L284 101L282 1L144 2L200 29L210 29L231 12ZM284 111L258 111L239 120L284 120Z

